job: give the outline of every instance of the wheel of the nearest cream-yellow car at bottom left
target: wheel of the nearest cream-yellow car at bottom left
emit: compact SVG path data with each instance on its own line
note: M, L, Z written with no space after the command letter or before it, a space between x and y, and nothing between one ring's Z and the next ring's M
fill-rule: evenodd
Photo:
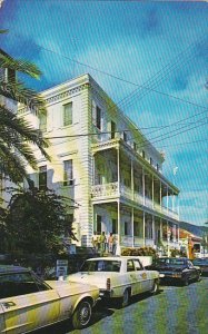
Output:
M85 328L91 320L91 304L88 301L82 301L77 306L72 315L72 325L76 330Z

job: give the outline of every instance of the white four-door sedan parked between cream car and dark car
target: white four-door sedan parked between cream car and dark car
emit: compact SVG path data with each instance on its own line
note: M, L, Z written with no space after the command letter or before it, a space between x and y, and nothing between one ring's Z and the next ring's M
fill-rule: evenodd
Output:
M80 271L67 277L68 282L97 285L100 297L122 298L122 306L129 304L136 294L159 289L159 273L146 271L136 256L112 256L87 259Z

